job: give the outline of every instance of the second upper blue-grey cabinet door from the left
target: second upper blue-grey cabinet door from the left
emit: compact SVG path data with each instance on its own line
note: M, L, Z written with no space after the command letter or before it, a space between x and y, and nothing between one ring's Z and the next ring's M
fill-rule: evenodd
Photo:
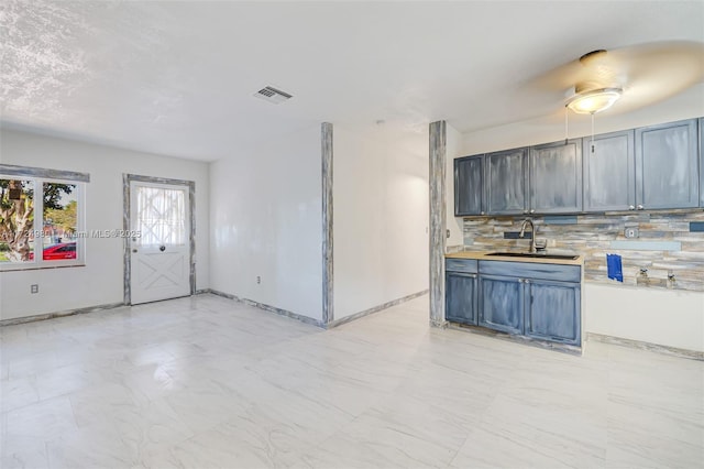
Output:
M528 209L528 150L488 153L486 168L486 212L520 215Z

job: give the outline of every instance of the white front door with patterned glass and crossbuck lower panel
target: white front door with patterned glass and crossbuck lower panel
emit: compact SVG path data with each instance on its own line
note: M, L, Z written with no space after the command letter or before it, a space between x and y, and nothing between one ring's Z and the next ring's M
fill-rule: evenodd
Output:
M130 182L133 305L190 295L188 186Z

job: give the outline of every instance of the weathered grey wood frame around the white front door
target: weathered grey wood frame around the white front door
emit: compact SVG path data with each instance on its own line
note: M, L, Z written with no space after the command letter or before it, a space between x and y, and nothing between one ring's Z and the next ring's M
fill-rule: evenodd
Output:
M188 242L190 247L190 255L188 260L189 264L189 283L190 294L196 294L196 183L194 181L186 179L169 179L166 177L153 177L142 176L139 174L122 174L122 229L124 232L130 231L131 219L131 183L153 183L153 184L168 184L172 186L188 187L188 211L190 219L190 232L188 233ZM123 244L123 287L124 287L124 304L132 304L132 286L131 286L131 272L132 272L132 255L130 254L130 238L122 239Z

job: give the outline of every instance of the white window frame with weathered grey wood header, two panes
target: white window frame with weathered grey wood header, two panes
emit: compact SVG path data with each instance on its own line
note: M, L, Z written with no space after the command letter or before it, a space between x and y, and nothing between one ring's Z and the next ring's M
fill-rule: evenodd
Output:
M61 170L14 166L0 164L0 179L30 181L34 185L34 221L32 231L44 232L44 184L69 184L76 188L72 196L76 199L76 236L70 242L76 242L76 259L44 260L44 237L34 237L32 248L33 259L25 262L1 262L0 272L28 271L38 269L57 269L86 265L86 188L90 182L87 173L76 173Z

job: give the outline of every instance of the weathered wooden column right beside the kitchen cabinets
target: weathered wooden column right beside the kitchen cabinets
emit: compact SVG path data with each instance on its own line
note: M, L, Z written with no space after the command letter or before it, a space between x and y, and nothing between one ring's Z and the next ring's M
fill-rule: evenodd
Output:
M447 123L430 123L430 325L444 325Z

